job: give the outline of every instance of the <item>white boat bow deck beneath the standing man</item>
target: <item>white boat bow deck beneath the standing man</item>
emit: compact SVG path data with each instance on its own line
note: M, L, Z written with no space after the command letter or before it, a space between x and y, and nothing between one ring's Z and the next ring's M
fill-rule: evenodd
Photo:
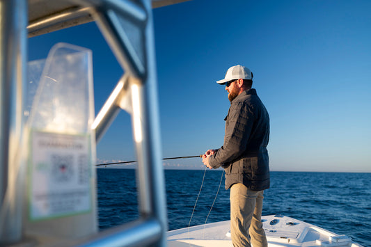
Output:
M268 246L360 246L345 235L280 215L262 216ZM230 221L168 232L168 246L232 246Z

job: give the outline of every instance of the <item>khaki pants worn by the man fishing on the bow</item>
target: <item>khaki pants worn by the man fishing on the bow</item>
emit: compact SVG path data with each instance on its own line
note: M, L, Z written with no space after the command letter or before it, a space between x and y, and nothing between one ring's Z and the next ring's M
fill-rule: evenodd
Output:
M263 191L251 191L244 184L230 188L230 234L233 246L267 247L262 228Z

